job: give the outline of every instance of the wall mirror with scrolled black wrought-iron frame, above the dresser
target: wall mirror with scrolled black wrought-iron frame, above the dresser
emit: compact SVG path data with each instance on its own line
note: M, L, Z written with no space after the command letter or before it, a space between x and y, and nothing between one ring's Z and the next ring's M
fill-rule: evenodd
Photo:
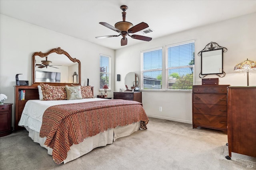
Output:
M224 77L226 73L223 70L223 53L228 49L220 47L217 43L210 42L202 51L198 53L201 56L201 72L200 78L208 74L216 74L219 77Z

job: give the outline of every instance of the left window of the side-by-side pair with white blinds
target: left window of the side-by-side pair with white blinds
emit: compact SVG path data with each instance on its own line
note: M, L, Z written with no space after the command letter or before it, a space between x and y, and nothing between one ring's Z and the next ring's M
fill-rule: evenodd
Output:
M162 47L141 52L141 89L162 88Z

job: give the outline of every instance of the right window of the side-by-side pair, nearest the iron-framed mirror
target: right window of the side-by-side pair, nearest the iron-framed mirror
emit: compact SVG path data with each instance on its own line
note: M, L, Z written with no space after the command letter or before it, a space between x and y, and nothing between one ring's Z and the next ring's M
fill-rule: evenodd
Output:
M166 46L166 90L192 89L194 59L194 40Z

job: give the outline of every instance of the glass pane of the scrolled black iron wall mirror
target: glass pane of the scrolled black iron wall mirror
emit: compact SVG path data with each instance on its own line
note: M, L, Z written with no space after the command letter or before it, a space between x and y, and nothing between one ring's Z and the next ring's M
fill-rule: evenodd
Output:
M223 73L223 50L202 51L202 75Z

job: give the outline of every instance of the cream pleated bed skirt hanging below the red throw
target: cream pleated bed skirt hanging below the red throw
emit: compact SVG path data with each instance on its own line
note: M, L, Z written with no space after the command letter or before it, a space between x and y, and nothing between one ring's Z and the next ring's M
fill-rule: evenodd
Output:
M52 155L52 148L46 147L44 145L44 142L46 141L46 137L41 138L39 137L39 132L36 132L32 129L29 129L26 127L28 133L28 136L36 143L39 143L42 147L47 149L48 154ZM112 144L113 141L120 137L129 136L135 131L138 131L140 129L140 122L135 122L130 125L126 126L118 126L114 129L108 129L107 131L103 133L98 133L97 135L93 137L88 137L84 139L82 143L79 143L77 145L72 145L70 147L70 150L68 151L67 158L63 161L64 164L67 162L74 160L76 158L79 158L80 156L90 152L94 148L97 147L103 147L108 144Z

